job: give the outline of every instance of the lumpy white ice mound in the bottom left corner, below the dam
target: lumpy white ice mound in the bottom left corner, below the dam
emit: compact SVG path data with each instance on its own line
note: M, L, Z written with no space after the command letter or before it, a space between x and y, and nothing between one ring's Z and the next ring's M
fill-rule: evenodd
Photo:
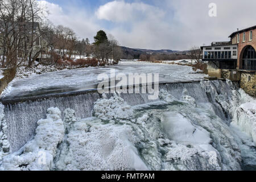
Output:
M36 171L52 168L57 146L63 141L65 130L59 109L51 107L47 113L46 119L38 121L34 139L28 142L19 154L5 156L0 169Z

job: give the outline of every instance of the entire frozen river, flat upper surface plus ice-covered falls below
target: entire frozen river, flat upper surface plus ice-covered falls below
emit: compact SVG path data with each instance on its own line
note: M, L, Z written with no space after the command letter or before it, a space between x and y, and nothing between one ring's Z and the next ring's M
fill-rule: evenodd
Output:
M166 84L154 102L147 94L76 93L94 89L110 68L159 73ZM3 101L63 96L0 104L0 171L255 170L255 99L236 82L193 73L127 61L14 80Z

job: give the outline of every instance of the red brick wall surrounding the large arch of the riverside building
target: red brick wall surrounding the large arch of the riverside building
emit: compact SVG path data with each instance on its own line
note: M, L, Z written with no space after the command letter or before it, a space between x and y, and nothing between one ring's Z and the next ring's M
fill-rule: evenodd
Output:
M251 40L251 41L249 41L250 31L253 31L253 40ZM236 38L237 38L237 34L234 36L236 36ZM238 43L237 69L242 68L243 51L244 51L245 47L249 46L249 45L252 46L256 50L256 29L249 30L249 31L245 32L245 42L243 42L243 32L240 33L240 43Z

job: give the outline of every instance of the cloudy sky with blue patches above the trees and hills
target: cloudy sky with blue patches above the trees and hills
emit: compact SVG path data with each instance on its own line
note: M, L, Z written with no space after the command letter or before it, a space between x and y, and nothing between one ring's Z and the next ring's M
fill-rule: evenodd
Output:
M256 24L255 0L47 0L40 1L55 25L71 27L79 38L98 30L122 46L186 50L227 41L237 28ZM209 16L209 4L217 16Z

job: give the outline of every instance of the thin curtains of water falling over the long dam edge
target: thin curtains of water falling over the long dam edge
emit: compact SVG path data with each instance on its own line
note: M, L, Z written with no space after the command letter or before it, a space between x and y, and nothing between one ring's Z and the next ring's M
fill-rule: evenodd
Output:
M159 88L167 90L178 99L182 96L183 90L186 89L197 103L210 102L219 117L227 118L228 115L214 97L216 92L231 96L232 89L230 86L235 87L235 89L238 89L238 86L236 84L230 85L228 82L221 80L205 81L207 84L202 84L202 82L160 84ZM111 94L107 96L110 97ZM121 97L131 106L154 102L148 100L147 94L121 94ZM64 113L64 110L69 107L76 111L76 117L87 118L92 117L93 104L99 98L101 98L101 95L97 92L89 92L12 104L5 103L7 138L11 145L11 151L19 150L34 136L38 120L46 118L46 111L49 107L58 107L61 113Z

